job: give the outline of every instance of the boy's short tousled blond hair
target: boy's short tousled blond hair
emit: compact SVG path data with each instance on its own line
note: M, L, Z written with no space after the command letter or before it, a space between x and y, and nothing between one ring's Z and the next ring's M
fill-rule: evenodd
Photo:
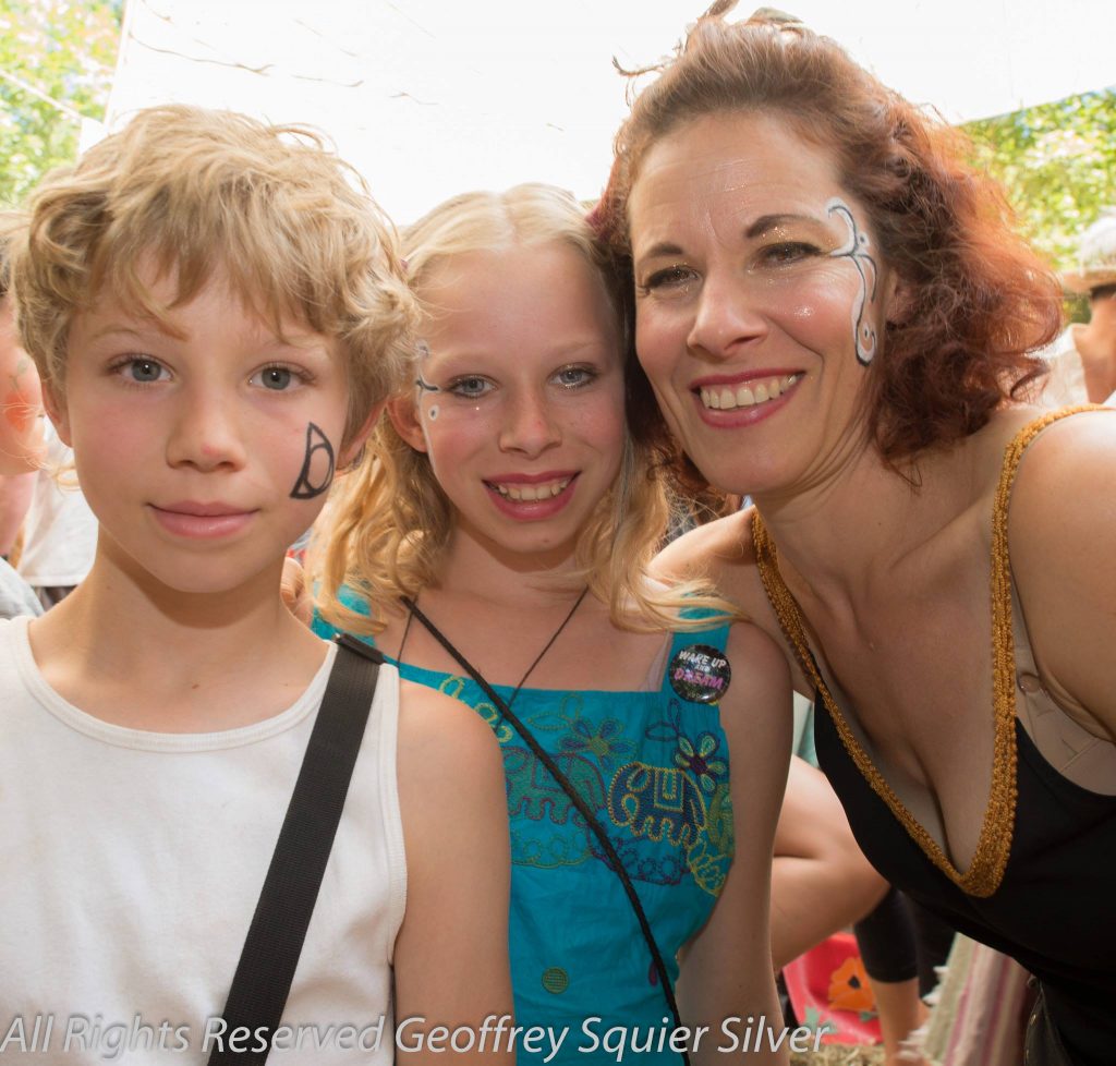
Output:
M69 333L102 294L165 325L215 272L281 336L334 338L347 443L385 398L419 320L391 222L321 136L232 112L153 107L50 173L10 241L23 347L65 394ZM167 305L144 280L172 278Z

